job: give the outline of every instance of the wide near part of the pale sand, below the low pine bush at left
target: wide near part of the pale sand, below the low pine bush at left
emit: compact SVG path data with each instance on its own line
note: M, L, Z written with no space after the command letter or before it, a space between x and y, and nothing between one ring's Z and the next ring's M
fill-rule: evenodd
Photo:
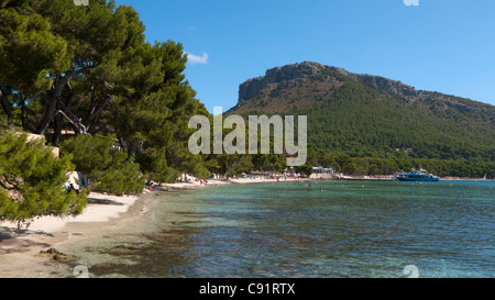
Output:
M147 191L145 191L147 193ZM70 218L43 216L28 230L18 230L15 223L0 222L0 278L46 277L50 258L36 257L59 242L86 235L98 229L97 223L116 220L133 205L139 196L118 197L91 192L82 214Z

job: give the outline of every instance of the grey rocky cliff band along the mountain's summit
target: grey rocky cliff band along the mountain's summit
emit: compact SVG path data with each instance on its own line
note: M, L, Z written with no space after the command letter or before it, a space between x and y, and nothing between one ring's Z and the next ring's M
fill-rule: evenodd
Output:
M329 81L334 82L336 78L328 76L328 70L359 81L373 89L385 91L389 95L398 96L418 96L415 88L404 85L400 81L391 80L380 76L361 75L346 71L342 68L324 66L318 63L304 62L300 64L287 65L268 69L266 75L249 79L239 87L238 107L245 104L246 101L256 98L263 90L270 89L271 85L278 84L277 89L286 89L298 84L309 81Z

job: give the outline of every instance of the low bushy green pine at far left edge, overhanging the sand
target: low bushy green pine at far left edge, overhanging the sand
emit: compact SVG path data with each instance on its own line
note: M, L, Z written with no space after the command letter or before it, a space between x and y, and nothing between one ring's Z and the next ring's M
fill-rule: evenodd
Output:
M86 207L86 192L67 192L68 158L57 158L43 142L26 135L0 136L0 221L18 227L43 215L75 215Z

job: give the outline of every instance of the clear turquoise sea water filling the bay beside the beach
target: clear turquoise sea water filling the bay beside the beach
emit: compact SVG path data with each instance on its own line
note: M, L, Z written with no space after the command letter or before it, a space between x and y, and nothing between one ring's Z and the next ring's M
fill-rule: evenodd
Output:
M495 277L495 181L306 184L163 192L64 252L91 277Z

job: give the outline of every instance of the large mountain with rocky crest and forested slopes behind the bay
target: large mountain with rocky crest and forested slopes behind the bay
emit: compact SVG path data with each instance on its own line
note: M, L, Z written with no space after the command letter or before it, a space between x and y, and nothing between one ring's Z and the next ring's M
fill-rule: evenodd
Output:
M495 160L495 107L314 62L275 67L240 85L227 114L308 115L316 152L359 157Z

